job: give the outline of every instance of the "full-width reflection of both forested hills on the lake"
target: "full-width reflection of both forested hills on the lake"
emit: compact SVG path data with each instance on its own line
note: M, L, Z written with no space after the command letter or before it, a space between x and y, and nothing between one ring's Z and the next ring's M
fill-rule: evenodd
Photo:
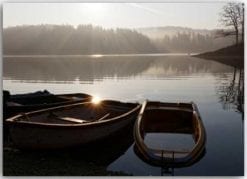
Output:
M230 67L182 56L17 58L3 60L3 78L22 82L93 83L104 79L175 78L229 72Z

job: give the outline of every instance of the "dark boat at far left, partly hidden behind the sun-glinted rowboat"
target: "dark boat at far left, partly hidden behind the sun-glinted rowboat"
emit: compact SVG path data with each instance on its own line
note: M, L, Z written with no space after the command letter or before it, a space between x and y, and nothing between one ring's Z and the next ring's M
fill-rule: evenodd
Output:
M84 93L55 95L45 90L34 93L10 95L8 91L4 91L4 118L21 112L86 102L91 99L91 95Z

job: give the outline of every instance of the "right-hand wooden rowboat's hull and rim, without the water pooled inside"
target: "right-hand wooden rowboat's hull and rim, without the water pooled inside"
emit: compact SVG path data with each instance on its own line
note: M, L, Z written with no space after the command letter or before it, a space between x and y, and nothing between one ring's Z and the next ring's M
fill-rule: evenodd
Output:
M190 150L151 148L145 142L147 133L191 134ZM190 166L205 151L206 132L194 103L160 103L145 101L134 127L135 145L144 161L156 166Z

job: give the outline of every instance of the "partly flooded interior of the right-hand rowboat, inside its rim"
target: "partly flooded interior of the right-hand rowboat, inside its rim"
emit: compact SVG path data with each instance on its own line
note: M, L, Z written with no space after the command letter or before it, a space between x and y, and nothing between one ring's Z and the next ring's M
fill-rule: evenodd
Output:
M159 138L160 145L164 143L165 146L173 146L176 140L179 142L178 145L174 146L180 147L172 149L163 148L164 146L160 148L157 148L157 146L153 147L145 142L149 150L158 155L163 155L162 152L170 157L174 155L174 153L176 156L187 155L198 140L198 121L193 115L191 105L187 107L176 107L172 105L168 105L167 107L155 105L147 106L140 125L140 133L143 141L147 141L145 138L152 134L153 136L157 136L157 138L153 137L152 141L157 141ZM163 141L161 139L163 139ZM192 143L192 145L186 144L186 140L188 143ZM181 143L184 143L186 148L181 147Z

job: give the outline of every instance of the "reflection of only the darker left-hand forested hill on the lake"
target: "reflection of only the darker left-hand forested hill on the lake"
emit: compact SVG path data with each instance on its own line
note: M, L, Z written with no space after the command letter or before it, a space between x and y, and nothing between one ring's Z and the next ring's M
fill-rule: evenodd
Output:
M92 83L105 78L132 78L151 63L147 57L4 58L3 77L25 82Z

